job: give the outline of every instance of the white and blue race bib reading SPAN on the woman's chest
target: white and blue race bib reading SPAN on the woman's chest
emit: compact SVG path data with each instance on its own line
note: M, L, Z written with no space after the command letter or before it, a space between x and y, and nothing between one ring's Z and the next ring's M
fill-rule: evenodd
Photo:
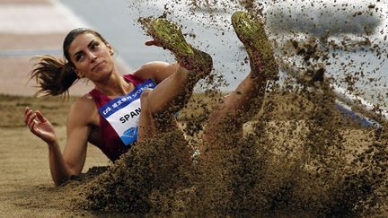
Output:
M132 92L110 100L100 108L102 117L110 123L110 126L113 127L125 145L137 141L138 121L141 111L140 95L146 89L154 89L154 87L156 87L156 84L148 79L145 83L137 85Z

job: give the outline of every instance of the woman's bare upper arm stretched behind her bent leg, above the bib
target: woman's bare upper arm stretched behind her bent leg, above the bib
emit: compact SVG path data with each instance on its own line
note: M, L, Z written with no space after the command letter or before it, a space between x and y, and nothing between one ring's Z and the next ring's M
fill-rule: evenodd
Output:
M134 74L142 80L151 78L155 83L161 83L165 78L175 73L179 66L177 63L154 61L142 65Z

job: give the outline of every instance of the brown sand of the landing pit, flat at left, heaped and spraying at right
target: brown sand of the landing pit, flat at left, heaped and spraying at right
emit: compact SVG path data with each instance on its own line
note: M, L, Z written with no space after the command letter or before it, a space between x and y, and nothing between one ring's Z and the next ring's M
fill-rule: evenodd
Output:
M238 146L226 145L213 153L212 159L182 161L192 150L173 134L137 144L114 164L90 145L84 172L100 167L54 187L47 147L23 126L22 109L41 109L55 123L64 144L66 109L74 99L1 95L0 215L386 213L384 182L378 179L384 179L385 163L378 163L378 158L386 158L387 141L376 138L374 130L335 119L329 108L313 108L303 96L284 92L269 96L260 115L245 126L247 137ZM203 96L195 99L201 101ZM307 107L301 114L292 102L303 101ZM328 117L325 113L330 111ZM312 112L317 119L305 119ZM185 114L200 115L183 112L183 124L190 123ZM337 126L328 127L327 122ZM357 158L363 161L354 161ZM373 200L383 209L369 204Z

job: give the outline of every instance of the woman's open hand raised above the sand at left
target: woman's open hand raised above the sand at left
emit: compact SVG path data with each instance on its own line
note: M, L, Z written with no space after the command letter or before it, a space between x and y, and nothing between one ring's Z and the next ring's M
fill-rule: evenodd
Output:
M39 110L34 112L29 108L24 109L24 123L33 135L37 135L47 144L57 142L57 135L54 127L47 118L43 117Z

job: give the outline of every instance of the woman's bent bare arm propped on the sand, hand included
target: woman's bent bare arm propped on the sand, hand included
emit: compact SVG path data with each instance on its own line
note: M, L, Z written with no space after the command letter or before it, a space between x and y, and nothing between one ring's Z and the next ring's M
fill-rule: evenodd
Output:
M94 106L94 105L93 105ZM94 107L95 108L95 107ZM32 134L48 144L48 161L51 177L56 185L81 173L86 159L87 139L90 134L88 118L91 107L83 100L77 100L67 118L67 142L62 153L53 126L40 111L25 109L24 121Z

